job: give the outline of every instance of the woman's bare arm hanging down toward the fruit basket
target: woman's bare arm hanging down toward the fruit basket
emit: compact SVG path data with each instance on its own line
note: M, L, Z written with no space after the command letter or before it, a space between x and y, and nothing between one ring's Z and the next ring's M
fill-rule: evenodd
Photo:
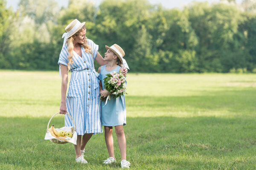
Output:
M61 106L60 106L60 114L67 113L66 106L66 93L67 93L67 82L68 82L68 69L66 65L61 65Z

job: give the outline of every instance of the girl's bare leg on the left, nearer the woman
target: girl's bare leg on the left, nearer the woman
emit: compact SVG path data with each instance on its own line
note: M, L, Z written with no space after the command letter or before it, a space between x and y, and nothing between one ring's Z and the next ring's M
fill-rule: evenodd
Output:
M108 148L109 157L115 158L114 142L113 142L113 136L112 136L113 127L112 126L104 126L104 130L105 130L105 142L106 142L106 145Z

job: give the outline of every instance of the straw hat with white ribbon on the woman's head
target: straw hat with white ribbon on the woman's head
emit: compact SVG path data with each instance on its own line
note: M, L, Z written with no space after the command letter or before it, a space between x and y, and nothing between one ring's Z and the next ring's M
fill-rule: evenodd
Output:
M80 23L79 20L75 19L73 20L69 25L67 25L67 27L65 28L65 32L62 35L62 38L64 38L64 42L63 42L63 46L66 44L66 41L69 37L71 37L72 35L76 34L77 31L79 31L83 26L84 26L85 22Z

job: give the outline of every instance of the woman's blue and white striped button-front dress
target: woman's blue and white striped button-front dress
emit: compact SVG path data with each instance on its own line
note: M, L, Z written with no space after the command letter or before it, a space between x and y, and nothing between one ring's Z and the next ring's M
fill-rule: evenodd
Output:
M67 112L76 123L76 133L102 133L100 121L100 99L99 99L99 74L94 69L93 61L96 58L99 46L92 40L87 39L91 46L93 55L86 53L81 47L80 57L73 51L73 63L70 65L71 78L67 92ZM58 64L67 66L67 45L61 50ZM65 115L65 126L73 126L70 116Z

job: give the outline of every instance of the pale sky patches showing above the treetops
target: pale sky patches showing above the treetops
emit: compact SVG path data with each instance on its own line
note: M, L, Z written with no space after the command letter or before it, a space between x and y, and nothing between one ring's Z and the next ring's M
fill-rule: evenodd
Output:
M58 2L59 6L64 6L67 7L68 0L55 0ZM91 0L93 1L97 6L101 3L102 0ZM148 0L149 3L152 5L154 4L161 4L165 8L182 8L183 6L186 6L189 3L192 3L193 1L199 1L199 2L204 2L207 1L209 3L214 3L214 2L219 2L219 0ZM20 0L7 0L7 7L9 8L10 6L13 7L13 9L16 11L18 7L18 3ZM236 3L241 3L242 0L236 0Z

